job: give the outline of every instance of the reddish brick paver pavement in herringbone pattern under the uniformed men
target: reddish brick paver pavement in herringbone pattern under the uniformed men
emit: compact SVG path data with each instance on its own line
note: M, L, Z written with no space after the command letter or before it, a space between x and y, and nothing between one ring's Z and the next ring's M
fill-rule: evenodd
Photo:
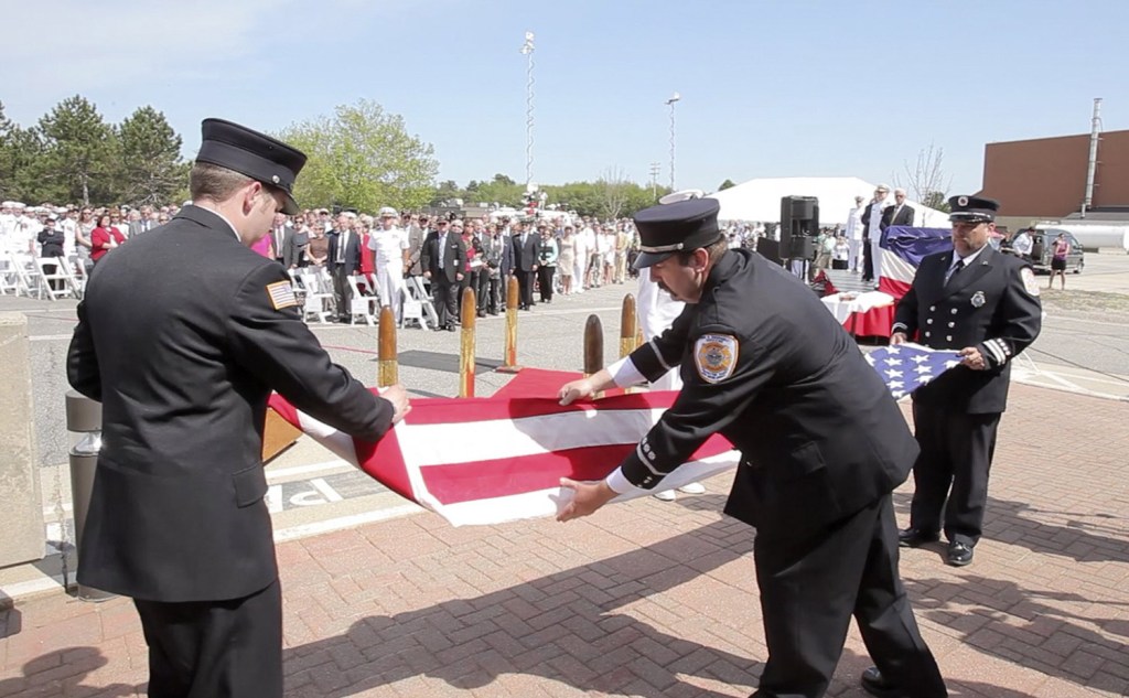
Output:
M954 696L1129 693L1127 425L1124 402L1013 385L975 561L904 551ZM287 695L746 696L767 651L727 485L567 525L421 514L283 543ZM145 695L128 601L29 600L0 637L0 696ZM852 630L830 695L861 696L867 665Z

